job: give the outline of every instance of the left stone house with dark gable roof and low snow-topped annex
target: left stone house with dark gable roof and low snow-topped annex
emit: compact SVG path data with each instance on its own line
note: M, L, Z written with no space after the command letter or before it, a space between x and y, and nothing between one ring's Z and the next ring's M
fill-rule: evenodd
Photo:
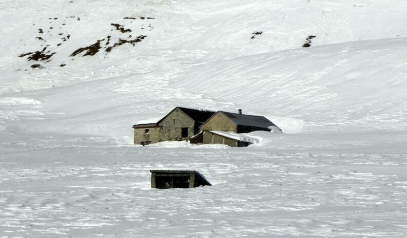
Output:
M189 140L215 112L175 107L157 123L135 124L134 144Z

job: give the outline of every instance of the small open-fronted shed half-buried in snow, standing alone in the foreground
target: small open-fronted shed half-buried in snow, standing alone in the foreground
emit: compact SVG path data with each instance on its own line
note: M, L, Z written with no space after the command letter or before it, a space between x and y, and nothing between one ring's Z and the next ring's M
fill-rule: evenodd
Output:
M150 170L151 188L195 188L212 184L195 170Z

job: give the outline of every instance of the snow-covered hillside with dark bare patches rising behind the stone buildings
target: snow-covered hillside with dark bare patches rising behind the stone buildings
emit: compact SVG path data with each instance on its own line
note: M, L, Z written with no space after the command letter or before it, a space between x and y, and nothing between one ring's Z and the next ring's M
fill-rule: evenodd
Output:
M5 56L2 118L45 119L5 127L129 136L135 121L175 105L242 107L283 127L292 121L288 124L295 129L284 128L287 132L297 132L302 121L305 131L406 125L400 88L406 82L402 37L407 29L397 24L406 18L401 1L391 6L370 1L6 1L3 6L8 27L2 28L0 46ZM255 31L263 33L252 39ZM316 36L312 47L301 48L308 35ZM145 38L134 46L106 51L119 39L138 36ZM95 55L70 56L97 40L101 49ZM55 52L49 62L17 57L43 47L48 47L44 54ZM45 68L31 69L32 64ZM16 100L21 110L15 110Z

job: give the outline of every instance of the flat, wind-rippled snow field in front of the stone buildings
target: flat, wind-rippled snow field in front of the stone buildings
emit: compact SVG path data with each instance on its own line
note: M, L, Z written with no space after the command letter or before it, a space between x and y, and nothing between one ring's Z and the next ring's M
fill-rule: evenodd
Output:
M407 235L405 154L294 141L280 149L10 139L0 157L3 237ZM151 189L151 168L198 169L213 186Z

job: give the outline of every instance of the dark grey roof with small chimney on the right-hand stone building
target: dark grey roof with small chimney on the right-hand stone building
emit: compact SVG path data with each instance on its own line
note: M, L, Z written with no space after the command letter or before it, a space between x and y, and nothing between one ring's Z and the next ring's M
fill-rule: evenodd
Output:
M237 114L237 113L229 113L219 111L229 118L231 121L235 122L237 125L248 125L248 126L257 126L262 128L268 128L269 126L276 126L273 122L268 120L263 116L255 116L255 115L246 115L246 114ZM276 126L277 127L277 126Z

